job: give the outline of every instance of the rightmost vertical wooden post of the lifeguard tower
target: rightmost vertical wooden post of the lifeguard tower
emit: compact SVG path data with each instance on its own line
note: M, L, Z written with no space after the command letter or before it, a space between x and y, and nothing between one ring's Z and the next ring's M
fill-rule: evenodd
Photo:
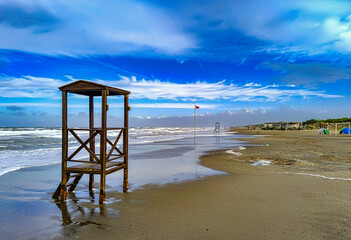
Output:
M124 95L124 133L123 133L123 154L124 154L124 170L123 170L123 192L128 191L128 125L129 118L129 96Z

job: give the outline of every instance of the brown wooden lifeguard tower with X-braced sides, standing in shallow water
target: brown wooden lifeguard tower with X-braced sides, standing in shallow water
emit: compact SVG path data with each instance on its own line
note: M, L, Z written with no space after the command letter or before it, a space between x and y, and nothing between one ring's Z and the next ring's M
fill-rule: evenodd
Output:
M92 193L94 174L97 174L100 175L99 203L101 204L105 201L106 175L122 169L124 170L123 192L126 192L128 190L128 111L130 110L128 97L130 92L84 80L64 85L59 89L62 91L62 175L61 183L52 197L58 198L60 196L60 200L64 201L67 191L70 193L75 189L83 174L89 174L89 191ZM67 127L67 93L89 97L89 128ZM124 127L107 128L107 96L114 95L124 97ZM94 97L101 97L101 127L99 128L94 126ZM89 132L89 138L85 141L77 134L77 132L82 131ZM107 133L110 131L117 135L113 141L107 137ZM70 155L69 134L81 144ZM113 134L109 134L109 137L110 135ZM95 137L97 136L100 137L99 154L95 152ZM123 149L117 147L121 137ZM89 153L87 159L74 159L83 148ZM71 183L69 183L70 179L73 179ZM67 187L69 187L68 190Z

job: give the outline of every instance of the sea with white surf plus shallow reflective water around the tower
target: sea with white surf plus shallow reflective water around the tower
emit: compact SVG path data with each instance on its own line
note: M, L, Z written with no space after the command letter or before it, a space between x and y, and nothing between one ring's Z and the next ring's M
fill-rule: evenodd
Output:
M89 137L76 132L83 141ZM118 133L107 136L113 140ZM93 224L91 217L99 212L119 216L120 195L111 193L123 192L123 171L107 176L104 205L98 202L99 176L91 195L86 174L67 201L52 199L61 180L61 134L61 128L0 128L0 239L65 239ZM68 140L72 153L80 143L72 136ZM200 157L211 150L241 151L244 145L232 133L213 133L213 128L197 128L195 138L193 128L130 128L128 191L226 174L202 166ZM82 149L76 157L86 155Z

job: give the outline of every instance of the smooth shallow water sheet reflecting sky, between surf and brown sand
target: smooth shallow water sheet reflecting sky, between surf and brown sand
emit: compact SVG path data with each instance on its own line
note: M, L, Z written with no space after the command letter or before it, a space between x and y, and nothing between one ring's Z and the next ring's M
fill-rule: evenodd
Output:
M245 142L231 138L232 135L208 132L197 137L196 144L193 138L178 136L175 140L130 145L130 191L148 184L223 174L199 165L198 161L206 151L245 145ZM236 138L240 136L236 135ZM109 197L109 192L122 191L122 171L108 175L104 205L98 204L98 189L94 196L89 195L87 176L82 178L75 193L68 195L65 203L55 202L51 195L60 182L60 174L60 164L51 164L22 168L0 176L1 238L63 238L81 226L96 225L95 215L118 217L118 210L113 209L118 209L116 205L120 199Z

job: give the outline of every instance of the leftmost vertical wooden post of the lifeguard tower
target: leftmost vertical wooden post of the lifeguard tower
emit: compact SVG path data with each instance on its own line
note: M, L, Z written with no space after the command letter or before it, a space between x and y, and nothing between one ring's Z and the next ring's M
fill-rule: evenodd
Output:
M62 91L62 175L61 175L61 202L66 200L68 175L66 173L68 158L68 131L67 131L67 92Z

